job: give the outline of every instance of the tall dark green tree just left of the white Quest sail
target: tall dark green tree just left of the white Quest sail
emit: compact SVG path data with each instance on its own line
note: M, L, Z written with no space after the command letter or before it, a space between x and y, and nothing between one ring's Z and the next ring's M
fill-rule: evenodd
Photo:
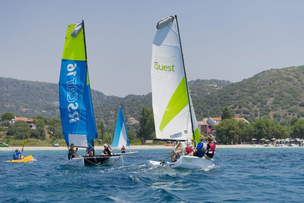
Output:
M139 138L153 139L155 136L153 110L143 107L140 117L140 128L138 132Z

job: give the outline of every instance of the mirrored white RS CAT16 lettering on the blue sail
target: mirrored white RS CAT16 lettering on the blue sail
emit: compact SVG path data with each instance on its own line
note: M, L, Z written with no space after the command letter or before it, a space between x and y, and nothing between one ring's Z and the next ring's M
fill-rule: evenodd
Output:
M77 63L67 65L67 78L70 79L71 76L73 77L71 80L67 79L67 101L69 105L67 109L71 114L69 114L70 123L79 121L79 113L76 111L78 109L78 103L75 102L77 100L77 90L76 87L76 71L75 68Z

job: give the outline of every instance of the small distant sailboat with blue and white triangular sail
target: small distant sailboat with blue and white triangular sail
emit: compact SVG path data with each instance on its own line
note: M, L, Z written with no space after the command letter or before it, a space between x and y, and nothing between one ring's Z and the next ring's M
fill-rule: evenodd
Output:
M112 148L121 148L121 147L129 147L129 152L125 153L114 153L119 155L129 155L129 154L136 154L137 152L131 152L130 150L130 143L129 137L126 129L125 120L123 119L123 111L121 110L121 106L119 106L119 112L116 122L115 133L112 141Z

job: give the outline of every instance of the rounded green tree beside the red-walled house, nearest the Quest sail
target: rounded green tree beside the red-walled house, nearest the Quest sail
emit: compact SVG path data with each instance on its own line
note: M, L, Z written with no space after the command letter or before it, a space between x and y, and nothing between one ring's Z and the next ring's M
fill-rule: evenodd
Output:
M239 139L240 128L238 121L233 118L225 119L218 125L214 125L213 128L216 130L216 137L223 143L230 142L231 140L237 141Z

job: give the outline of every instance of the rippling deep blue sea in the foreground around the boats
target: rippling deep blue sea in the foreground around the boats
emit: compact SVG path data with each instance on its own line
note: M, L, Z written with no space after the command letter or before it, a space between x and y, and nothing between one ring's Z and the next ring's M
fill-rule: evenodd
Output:
M67 151L0 151L1 202L304 202L304 147L217 149L209 171L148 166L168 150L123 156L123 166L66 166ZM78 154L85 151L78 150Z

